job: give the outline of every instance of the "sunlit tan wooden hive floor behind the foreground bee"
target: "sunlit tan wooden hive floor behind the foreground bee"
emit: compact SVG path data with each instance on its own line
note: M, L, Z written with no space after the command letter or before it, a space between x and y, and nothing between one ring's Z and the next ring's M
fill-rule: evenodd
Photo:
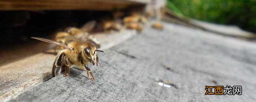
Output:
M114 46L136 32L122 30L119 33L94 35L101 43L100 49ZM51 78L55 54L43 53L49 46L34 40L30 44L7 46L0 51L0 102L8 100L27 88Z

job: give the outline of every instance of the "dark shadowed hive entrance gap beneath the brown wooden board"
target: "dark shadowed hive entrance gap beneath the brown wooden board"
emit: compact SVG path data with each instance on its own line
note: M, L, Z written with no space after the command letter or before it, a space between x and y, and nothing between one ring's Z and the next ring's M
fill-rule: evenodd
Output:
M47 37L65 27L112 18L111 11L0 11L0 43L24 43L30 37Z

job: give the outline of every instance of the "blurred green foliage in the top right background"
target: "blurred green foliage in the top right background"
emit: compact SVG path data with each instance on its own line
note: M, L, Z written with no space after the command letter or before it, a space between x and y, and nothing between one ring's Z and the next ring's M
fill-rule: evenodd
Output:
M167 0L167 6L179 16L256 33L256 0Z

